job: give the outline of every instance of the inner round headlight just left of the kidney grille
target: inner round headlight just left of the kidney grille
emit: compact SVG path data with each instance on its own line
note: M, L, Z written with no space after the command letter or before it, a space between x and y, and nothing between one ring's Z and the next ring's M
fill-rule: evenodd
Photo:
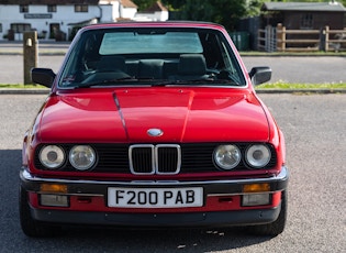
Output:
M91 146L74 146L69 152L69 162L78 170L87 170L96 162L96 153Z

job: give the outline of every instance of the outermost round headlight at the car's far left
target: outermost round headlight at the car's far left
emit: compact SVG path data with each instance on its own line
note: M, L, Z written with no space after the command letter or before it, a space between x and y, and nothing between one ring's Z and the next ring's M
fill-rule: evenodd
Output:
M65 163L65 152L60 146L48 145L40 151L38 158L45 167L56 169Z

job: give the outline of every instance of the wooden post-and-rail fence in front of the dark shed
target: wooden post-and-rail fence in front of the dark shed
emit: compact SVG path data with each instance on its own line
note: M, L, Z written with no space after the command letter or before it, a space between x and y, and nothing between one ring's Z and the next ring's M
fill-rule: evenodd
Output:
M258 50L266 52L346 51L346 29L286 30L282 24L258 30Z

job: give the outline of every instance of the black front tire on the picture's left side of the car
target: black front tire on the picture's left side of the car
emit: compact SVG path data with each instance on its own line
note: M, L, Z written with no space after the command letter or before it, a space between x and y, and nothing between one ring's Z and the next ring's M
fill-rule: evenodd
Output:
M34 220L31 216L27 193L20 188L20 222L22 231L31 238L48 238L60 233L60 227L51 226L41 221Z

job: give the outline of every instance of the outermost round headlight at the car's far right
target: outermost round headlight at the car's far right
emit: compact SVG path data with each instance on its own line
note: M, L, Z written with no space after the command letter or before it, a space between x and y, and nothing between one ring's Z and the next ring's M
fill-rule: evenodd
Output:
M246 151L246 162L255 168L266 166L269 163L270 157L270 151L266 145L252 145Z

